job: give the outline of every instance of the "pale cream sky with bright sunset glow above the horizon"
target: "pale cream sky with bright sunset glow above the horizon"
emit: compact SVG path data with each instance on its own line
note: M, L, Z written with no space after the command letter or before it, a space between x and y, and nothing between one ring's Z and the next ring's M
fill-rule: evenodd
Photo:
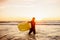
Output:
M60 18L60 0L0 0L0 19Z

